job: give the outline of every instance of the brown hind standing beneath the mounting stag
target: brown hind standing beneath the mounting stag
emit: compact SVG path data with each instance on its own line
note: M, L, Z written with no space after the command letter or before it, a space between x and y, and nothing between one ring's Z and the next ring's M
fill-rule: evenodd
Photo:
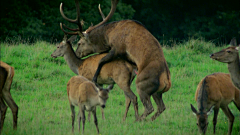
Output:
M68 66L75 74L84 76L85 78L91 80L98 67L98 62L106 56L106 54L94 55L86 59L78 58L71 45L71 42L75 40L75 38L76 36L72 36L67 40L67 35L65 34L63 41L57 46L57 49L51 56L53 58L63 56ZM135 67L136 66L133 66L126 61L115 60L104 65L98 76L98 84L114 85L116 83L124 91L126 98L126 110L123 120L127 117L131 102L134 105L135 117L138 119L137 96L130 88L130 85L136 76L136 73L134 72L134 70L136 70Z

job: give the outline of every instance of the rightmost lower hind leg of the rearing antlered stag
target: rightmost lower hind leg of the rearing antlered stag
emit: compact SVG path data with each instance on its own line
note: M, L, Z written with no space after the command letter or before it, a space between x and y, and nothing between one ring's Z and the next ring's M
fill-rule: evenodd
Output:
M152 96L158 107L157 112L151 118L151 120L153 121L166 109L166 107L162 100L162 93L154 93Z

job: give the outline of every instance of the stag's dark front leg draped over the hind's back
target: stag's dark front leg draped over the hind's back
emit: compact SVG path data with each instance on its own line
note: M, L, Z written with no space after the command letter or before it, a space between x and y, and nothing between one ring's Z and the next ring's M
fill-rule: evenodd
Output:
M103 66L104 64L112 61L114 58L115 58L115 49L112 49L111 51L109 51L109 53L108 53L105 57L103 57L103 58L99 61L97 71L96 71L96 73L94 74L94 77L93 77L93 80L92 80L95 84L97 84L97 77L98 77L98 75L100 74L100 71L101 71L101 69L102 69L102 66Z

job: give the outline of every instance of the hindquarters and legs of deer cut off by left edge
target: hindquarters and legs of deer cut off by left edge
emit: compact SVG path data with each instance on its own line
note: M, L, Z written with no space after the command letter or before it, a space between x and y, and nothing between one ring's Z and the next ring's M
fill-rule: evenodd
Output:
M7 111L7 105L11 108L13 114L13 128L17 129L17 115L18 115L18 106L14 102L10 89L14 76L14 68L8 64L0 61L0 109L1 109L1 123L0 123L0 133L3 129L3 123Z

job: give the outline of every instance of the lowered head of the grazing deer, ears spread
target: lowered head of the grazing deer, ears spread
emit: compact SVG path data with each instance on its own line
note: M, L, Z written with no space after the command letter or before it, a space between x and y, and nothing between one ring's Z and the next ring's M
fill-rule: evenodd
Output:
M197 126L200 134L205 134L208 126L208 115L213 111L214 106L212 106L208 111L197 111L191 104L191 109L193 114L197 116Z

